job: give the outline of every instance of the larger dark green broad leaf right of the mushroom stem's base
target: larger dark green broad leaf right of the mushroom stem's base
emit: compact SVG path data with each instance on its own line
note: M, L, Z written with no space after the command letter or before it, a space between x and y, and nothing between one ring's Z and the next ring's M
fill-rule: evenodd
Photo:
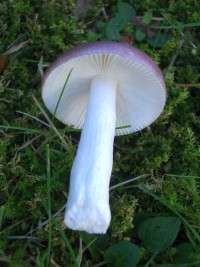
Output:
M159 253L169 248L177 237L181 222L176 217L156 217L144 221L138 231L146 249Z

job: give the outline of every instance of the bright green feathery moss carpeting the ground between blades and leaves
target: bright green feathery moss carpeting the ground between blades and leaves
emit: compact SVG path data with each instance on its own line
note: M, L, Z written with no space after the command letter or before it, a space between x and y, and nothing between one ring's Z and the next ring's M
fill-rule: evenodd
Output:
M165 25L173 26L180 22L198 22L197 2L138 0L134 1L132 6L137 16L143 16L147 10L152 10L155 17L164 14ZM105 8L108 19L103 17L102 13L94 15L102 7ZM71 254L58 229L55 225L49 228L49 224L41 227L41 222L48 219L45 210L48 201L46 144L50 144L51 204L52 214L55 214L66 203L70 169L80 134L64 131L65 126L54 121L68 143L66 150L59 138L48 132L48 127L17 111L26 112L45 121L32 99L34 94L42 102L39 91L39 61L43 58L45 71L46 66L60 53L79 43L87 42L89 32L98 34L97 22L108 22L115 15L116 1L94 1L82 19L76 17L75 8L76 2L72 0L9 0L0 4L2 53L10 45L31 39L30 44L10 56L0 77L0 124L43 131L38 134L0 129L0 205L3 211L0 249L5 257L11 259L7 266L37 266L42 260L45 261L49 231L52 231L51 256L55 262L61 266L66 263L67 266L73 266ZM129 34L134 34L136 30L137 27L133 25ZM181 32L184 33L184 37ZM150 46L146 38L142 42L137 42L132 36L133 45L150 55L164 74L168 72L173 56L176 55L177 58L166 80L168 98L162 116L141 132L116 137L111 183L116 184L140 174L152 173L151 178L140 182L146 183L167 201L172 210L179 212L199 231L199 179L177 178L177 175L183 174L198 176L200 171L200 93L198 86L194 85L199 83L198 28L173 29L167 33L171 37L170 41L159 48ZM181 48L177 48L182 38L184 43ZM197 46L196 49L191 46L191 42ZM178 84L182 83L190 86L180 87ZM194 86L191 86L192 84ZM50 114L49 116L51 118ZM130 186L125 193L124 188L122 186L121 191L111 192L113 217L108 231L109 244L128 239L133 241L133 218L138 210L144 209L154 216L171 213L137 189ZM56 221L77 255L79 234L64 227L63 212L59 213ZM25 236L34 228L37 230L32 235L39 238L39 244L27 240L8 239L12 235ZM184 229L177 243L182 241L188 242ZM150 255L135 237L134 242L138 242L144 262L147 262ZM161 263L162 260L170 262L173 249L174 247L171 247L166 252L166 257L160 256ZM103 251L100 253L103 257ZM90 253L84 251L83 265L89 266L94 261Z

